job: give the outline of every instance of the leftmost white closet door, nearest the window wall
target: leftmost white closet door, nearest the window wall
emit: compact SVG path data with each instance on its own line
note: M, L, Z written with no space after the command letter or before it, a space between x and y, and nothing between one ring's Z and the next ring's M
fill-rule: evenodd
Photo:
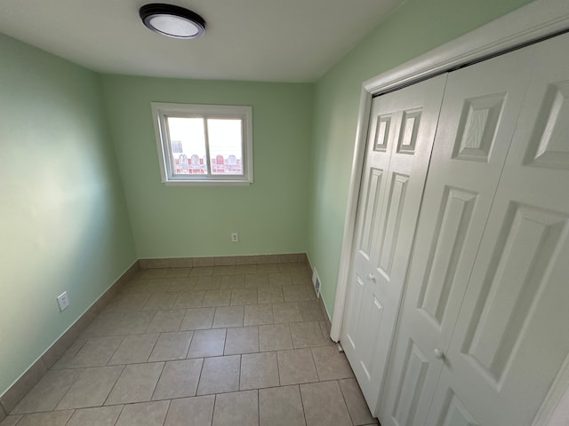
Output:
M389 356L445 75L373 100L341 342L372 412Z

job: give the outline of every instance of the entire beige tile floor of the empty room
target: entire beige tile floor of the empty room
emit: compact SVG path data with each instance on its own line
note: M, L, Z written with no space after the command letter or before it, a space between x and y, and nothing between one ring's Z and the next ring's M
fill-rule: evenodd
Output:
M2 426L367 425L306 264L138 273Z

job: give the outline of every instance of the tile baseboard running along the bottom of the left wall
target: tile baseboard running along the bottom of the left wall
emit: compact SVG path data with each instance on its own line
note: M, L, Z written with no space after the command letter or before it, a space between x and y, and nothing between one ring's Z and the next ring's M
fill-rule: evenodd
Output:
M140 265L137 260L0 396L0 422L3 420L3 415L5 418L12 412L20 400L41 380L47 370L60 359L68 347L139 270Z

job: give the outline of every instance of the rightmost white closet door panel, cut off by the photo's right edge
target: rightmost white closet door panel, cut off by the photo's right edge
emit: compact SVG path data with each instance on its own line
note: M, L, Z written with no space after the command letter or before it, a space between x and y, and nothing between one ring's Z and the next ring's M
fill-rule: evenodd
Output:
M567 45L525 50L532 83L428 425L530 426L569 354Z

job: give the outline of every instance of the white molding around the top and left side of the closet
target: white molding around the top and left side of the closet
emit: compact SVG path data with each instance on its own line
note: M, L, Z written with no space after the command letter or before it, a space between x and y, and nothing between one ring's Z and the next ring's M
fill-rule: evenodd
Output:
M333 341L340 340L346 307L356 233L357 200L373 96L418 83L453 68L487 59L567 30L569 30L569 3L566 0L535 0L403 65L376 75L362 84L330 332Z

